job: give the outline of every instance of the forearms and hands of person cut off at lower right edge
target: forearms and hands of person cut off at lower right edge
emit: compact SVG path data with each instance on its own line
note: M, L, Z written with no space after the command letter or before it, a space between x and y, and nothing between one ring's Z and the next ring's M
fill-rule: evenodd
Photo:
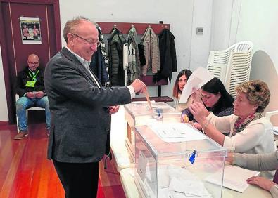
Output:
M245 169L255 171L274 171L278 167L278 150L269 154L240 154L229 153L226 161L236 164ZM270 191L272 197L278 197L278 171L276 171L273 181L267 178L253 176L247 179L247 183L258 185Z

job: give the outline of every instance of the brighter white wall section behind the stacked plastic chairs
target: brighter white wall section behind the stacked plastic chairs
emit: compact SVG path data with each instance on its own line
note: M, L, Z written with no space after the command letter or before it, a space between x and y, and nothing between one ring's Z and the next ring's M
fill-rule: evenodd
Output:
M265 81L272 96L265 112L278 110L277 0L214 0L211 50L249 40L254 44L250 79ZM278 117L274 117L278 124Z

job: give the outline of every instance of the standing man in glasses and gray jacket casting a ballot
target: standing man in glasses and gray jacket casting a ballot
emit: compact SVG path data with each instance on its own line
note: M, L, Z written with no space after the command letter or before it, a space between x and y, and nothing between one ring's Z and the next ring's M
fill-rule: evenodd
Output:
M63 29L67 43L46 65L44 84L51 110L48 158L65 190L65 197L96 197L99 161L108 152L110 114L130 103L146 85L103 88L89 70L99 37L93 22L79 17ZM106 153L107 154L107 153Z

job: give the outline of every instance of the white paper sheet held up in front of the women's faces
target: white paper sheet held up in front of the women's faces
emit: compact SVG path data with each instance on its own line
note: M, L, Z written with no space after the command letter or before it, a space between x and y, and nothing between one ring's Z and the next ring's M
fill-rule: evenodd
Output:
M197 90L201 88L208 81L213 79L215 76L213 73L208 72L203 67L198 67L189 77L187 81L187 85L184 86L182 91L182 95L180 96L179 103L187 103L187 99L194 92L192 88L196 88Z

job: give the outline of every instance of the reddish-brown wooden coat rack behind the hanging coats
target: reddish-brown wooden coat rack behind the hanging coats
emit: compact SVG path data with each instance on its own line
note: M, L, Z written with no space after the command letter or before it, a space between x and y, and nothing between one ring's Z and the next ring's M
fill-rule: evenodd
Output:
M101 27L102 34L110 34L113 27L117 27L122 34L128 34L131 27L135 27L137 34L144 34L148 27L153 29L153 32L159 34L163 29L170 29L170 24L165 23L138 23L138 22L96 22ZM161 85L167 85L168 81L166 79L161 79L160 81L153 83L153 76L141 76L141 81L144 81L146 86L158 86L158 97L151 97L151 99L163 102L172 102L172 98L167 96L161 97ZM136 98L134 98L136 99Z

